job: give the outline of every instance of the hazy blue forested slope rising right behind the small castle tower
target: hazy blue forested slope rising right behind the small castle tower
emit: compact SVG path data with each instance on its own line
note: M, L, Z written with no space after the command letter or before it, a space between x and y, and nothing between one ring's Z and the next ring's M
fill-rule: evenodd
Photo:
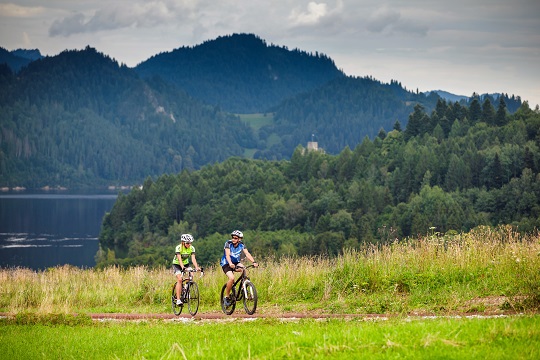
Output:
M276 134L280 142L255 158L288 158L298 144L311 135L319 147L337 154L346 146L354 148L368 136L390 131L398 122L405 126L416 104L431 111L439 97L415 94L398 82L383 84L366 77L341 77L309 92L283 101L271 109L274 123L263 127L259 136ZM278 156L276 156L278 155Z

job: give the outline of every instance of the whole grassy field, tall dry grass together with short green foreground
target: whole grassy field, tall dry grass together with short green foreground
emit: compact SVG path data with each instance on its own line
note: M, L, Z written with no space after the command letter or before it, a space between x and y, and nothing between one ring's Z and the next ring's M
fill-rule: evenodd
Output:
M87 314L171 313L168 269L2 269L0 312L7 316L0 319L0 354L6 359L537 359L539 269L538 234L482 228L366 245L336 259L266 259L250 276L259 293L256 314L274 318L130 322L92 321ZM219 312L221 270L210 268L196 280L199 314ZM287 312L388 316L279 317Z

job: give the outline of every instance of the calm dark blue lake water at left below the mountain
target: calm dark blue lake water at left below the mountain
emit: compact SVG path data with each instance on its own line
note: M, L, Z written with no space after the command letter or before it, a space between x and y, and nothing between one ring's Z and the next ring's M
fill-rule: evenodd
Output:
M0 267L93 267L117 194L0 194Z

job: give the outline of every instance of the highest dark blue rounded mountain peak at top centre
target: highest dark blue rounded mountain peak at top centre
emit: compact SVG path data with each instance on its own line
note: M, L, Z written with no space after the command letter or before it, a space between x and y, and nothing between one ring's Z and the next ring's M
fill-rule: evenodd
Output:
M135 67L158 75L207 104L233 113L267 111L282 100L344 77L320 54L268 45L253 34L233 34L160 53Z

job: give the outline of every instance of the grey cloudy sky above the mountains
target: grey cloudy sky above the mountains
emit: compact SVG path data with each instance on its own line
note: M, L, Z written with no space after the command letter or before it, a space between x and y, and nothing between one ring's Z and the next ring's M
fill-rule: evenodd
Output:
M87 45L135 66L233 33L320 52L347 75L409 90L540 104L539 0L0 0L0 46Z

